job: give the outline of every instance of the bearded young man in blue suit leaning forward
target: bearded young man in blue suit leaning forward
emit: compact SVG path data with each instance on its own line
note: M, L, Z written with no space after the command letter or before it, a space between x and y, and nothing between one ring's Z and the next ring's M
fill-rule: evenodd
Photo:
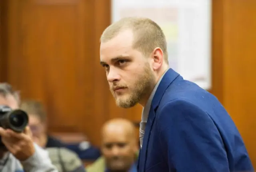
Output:
M101 36L100 63L116 104L141 104L139 172L254 171L228 113L168 67L166 38L148 18L123 18Z

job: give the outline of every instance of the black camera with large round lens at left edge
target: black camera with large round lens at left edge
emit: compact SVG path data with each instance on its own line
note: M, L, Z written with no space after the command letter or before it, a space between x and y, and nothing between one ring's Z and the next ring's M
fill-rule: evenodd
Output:
M23 110L12 110L8 106L0 105L0 127L23 132L28 125L28 114Z

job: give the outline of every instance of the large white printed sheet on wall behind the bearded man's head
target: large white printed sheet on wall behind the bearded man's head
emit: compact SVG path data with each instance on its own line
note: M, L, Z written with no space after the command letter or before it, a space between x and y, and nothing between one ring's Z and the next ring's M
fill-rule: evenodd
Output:
M112 22L148 17L160 25L171 68L211 88L211 0L112 0Z

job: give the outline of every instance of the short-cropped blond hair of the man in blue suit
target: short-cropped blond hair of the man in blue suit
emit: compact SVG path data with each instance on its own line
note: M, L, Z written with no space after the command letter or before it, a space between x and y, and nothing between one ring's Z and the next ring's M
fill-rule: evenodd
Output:
M148 56L156 47L159 47L164 53L165 62L168 63L167 42L164 32L156 22L149 18L122 18L104 30L100 42L107 42L126 29L132 29L134 33L133 48Z

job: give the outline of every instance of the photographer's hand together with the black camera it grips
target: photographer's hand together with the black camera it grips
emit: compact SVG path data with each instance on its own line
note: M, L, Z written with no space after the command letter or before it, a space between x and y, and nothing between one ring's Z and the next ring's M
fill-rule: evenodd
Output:
M0 105L1 146L5 146L20 161L30 158L35 152L27 124L26 112Z

